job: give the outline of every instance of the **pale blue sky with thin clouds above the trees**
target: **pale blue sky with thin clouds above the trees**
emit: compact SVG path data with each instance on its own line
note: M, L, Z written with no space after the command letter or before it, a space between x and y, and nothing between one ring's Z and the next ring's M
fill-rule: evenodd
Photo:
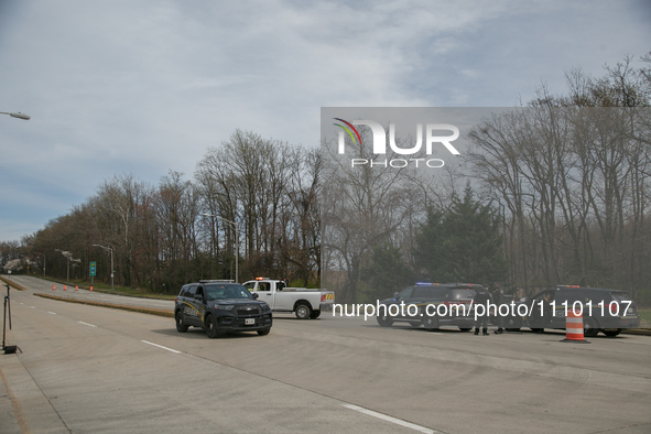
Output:
M651 51L651 2L0 0L0 241L115 175L192 178L236 129L322 107L513 107ZM636 64L633 64L636 65Z

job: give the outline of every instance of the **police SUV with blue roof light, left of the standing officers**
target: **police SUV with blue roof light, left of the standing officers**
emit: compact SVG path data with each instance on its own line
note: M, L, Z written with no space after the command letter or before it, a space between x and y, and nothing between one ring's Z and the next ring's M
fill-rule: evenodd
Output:
M475 286L478 285L420 282L379 301L376 318L382 327L403 322L413 327L422 325L430 332L441 326L457 326L468 332L475 325L471 307Z

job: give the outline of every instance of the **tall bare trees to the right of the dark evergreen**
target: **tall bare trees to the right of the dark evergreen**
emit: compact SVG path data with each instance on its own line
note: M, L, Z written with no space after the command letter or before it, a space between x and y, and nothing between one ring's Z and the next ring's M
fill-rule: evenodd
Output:
M600 78L572 70L568 95L542 88L470 133L512 284L618 287L651 303L651 54L631 61Z

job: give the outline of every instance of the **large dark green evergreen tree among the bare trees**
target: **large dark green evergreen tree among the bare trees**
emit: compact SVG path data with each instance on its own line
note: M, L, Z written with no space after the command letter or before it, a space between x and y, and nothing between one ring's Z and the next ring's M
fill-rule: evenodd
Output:
M416 238L415 264L422 278L433 282L488 285L507 275L501 246L499 218L467 186L447 210L430 209Z

